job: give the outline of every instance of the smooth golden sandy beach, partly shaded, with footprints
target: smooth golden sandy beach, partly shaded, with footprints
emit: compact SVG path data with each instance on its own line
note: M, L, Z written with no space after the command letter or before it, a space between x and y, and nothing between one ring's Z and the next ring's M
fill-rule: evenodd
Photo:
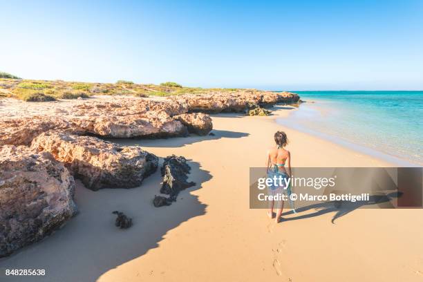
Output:
M277 130L288 134L292 167L393 165L285 129L274 120L295 109L274 109L268 117L212 115L214 136L114 140L159 157L185 156L197 185L156 208L159 172L134 189L90 191L77 180L79 214L1 259L0 268L46 269L48 276L31 281L422 281L418 209L359 209L334 224L324 209L288 209L275 224L264 210L249 208L249 168L265 164ZM113 226L116 209L133 218L131 229Z

